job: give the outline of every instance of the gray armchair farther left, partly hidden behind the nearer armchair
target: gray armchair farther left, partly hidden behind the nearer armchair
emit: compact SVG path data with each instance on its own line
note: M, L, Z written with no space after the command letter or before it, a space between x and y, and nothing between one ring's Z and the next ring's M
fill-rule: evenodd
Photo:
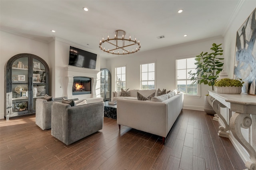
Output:
M51 129L52 104L54 102L61 102L62 98L67 99L67 97L54 98L53 101L47 101L42 98L36 99L36 125L42 130Z

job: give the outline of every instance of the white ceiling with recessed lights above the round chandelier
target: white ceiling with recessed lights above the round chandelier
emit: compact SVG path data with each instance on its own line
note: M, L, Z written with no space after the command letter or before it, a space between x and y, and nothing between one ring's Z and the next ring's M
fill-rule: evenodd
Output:
M0 27L49 42L81 45L101 57L99 41L117 29L140 40L140 51L223 35L240 0L0 0ZM87 7L88 12L82 8ZM178 14L178 10L184 12ZM54 29L56 33L50 30ZM183 35L187 34L187 37ZM165 38L157 39L164 35Z

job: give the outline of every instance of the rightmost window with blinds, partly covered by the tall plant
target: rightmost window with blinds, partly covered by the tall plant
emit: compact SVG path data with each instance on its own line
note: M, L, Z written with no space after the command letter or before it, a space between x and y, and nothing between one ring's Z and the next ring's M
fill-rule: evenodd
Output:
M198 84L192 84L188 72L196 72L195 58L176 60L176 88L186 95L199 96Z

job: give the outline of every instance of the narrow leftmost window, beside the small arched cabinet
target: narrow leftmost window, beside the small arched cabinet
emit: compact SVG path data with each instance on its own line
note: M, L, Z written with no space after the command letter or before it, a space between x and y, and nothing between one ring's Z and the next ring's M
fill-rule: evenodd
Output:
M116 92L126 89L126 66L116 67Z

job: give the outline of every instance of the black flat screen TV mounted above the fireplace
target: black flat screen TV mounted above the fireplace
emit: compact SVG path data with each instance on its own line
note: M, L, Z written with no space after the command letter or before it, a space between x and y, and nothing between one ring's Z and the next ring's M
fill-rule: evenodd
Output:
M96 59L96 54L70 46L68 65L95 69Z

